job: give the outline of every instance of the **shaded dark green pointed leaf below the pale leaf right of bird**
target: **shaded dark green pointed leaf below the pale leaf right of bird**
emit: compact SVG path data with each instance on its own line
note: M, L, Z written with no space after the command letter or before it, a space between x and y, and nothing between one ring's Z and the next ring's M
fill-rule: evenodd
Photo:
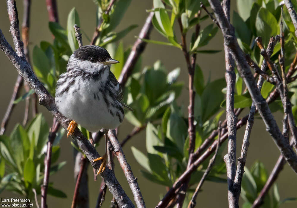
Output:
M148 154L149 166L153 174L159 175L164 181L168 181L168 173L165 164L163 163L163 158L159 155Z

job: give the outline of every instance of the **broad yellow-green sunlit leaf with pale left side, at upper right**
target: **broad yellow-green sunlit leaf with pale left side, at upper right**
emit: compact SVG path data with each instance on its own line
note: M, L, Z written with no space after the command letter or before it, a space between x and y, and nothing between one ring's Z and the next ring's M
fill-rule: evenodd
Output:
M266 48L271 36L279 33L277 20L268 10L261 8L256 18L257 36L261 36L263 45Z

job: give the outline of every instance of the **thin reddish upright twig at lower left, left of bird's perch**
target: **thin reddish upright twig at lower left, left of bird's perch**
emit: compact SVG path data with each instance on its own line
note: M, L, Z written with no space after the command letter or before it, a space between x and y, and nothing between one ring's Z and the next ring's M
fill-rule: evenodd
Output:
M41 208L48 207L48 205L46 204L46 198L47 198L47 191L48 191L48 182L50 177L52 148L53 148L53 142L56 138L56 133L58 132L59 127L60 127L59 122L56 120L56 118L53 118L53 126L50 128L50 133L48 135L46 157L44 158L44 178L43 178L43 184L41 186Z

